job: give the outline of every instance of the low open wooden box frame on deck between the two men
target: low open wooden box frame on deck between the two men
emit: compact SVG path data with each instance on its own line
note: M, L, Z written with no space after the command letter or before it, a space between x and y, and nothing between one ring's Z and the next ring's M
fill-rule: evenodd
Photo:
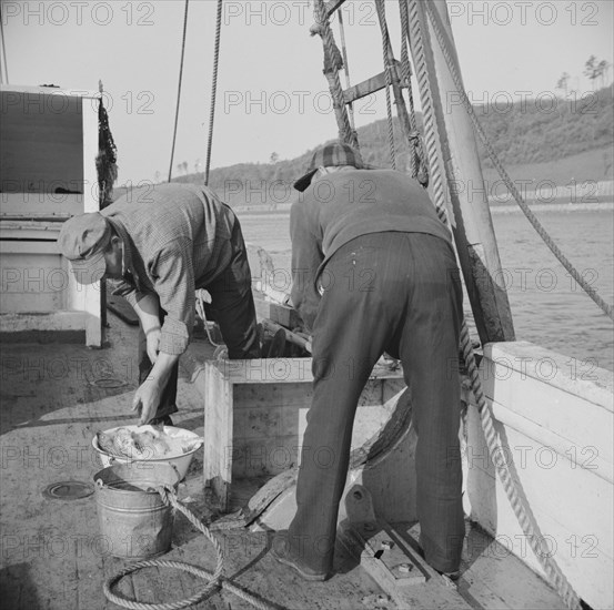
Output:
M204 364L204 481L221 509L233 482L265 480L298 464L311 405L311 358L208 360ZM404 386L402 373L376 366L359 401L353 446L390 416L384 405Z

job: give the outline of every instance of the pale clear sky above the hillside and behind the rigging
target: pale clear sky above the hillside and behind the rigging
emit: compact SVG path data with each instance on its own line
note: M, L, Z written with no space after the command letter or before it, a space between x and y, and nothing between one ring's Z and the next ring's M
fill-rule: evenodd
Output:
M212 167L293 159L338 133L322 74L322 43L310 37L310 0L224 0ZM400 55L399 2L386 16ZM1 0L4 85L104 87L118 146L119 184L168 176L177 104L183 0ZM590 55L614 63L612 0L447 0L465 89L475 103L590 95ZM190 0L173 162L202 171L211 103L217 0ZM372 0L343 8L351 83L382 71ZM340 43L339 23L333 23ZM4 70L6 60L6 70ZM610 69L606 83L612 82ZM571 95L567 91L567 95ZM414 89L417 99L417 88ZM417 104L420 106L420 104ZM383 94L355 104L356 125L385 118Z

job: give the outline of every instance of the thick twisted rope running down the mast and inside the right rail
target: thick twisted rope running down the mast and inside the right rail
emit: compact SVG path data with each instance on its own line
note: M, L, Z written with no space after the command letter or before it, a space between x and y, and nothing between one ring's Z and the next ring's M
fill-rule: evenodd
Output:
M409 1L411 7L411 13L414 17L413 19L414 32L416 32L417 34L427 37L429 33L426 31L421 32L422 28L420 26L420 20L417 18L417 11L420 10L417 7L419 0L409 0ZM434 17L433 14L434 11L432 7L430 6L429 2L421 2L421 6L425 7L426 12L431 18L431 22L433 23L433 28L436 33L439 28L436 27L435 22L439 20ZM440 29L440 32L441 32L441 29ZM424 77L424 72L426 71L426 65L424 60L424 48L423 48L422 35L420 35L417 40L414 39L414 43L416 44L415 48L417 51L416 54L420 58L416 60L416 62L420 65L419 73L422 75L423 79L427 79L427 77ZM442 42L442 39L440 38L439 38L439 42L443 51L445 42ZM449 62L449 65L452 70L452 62L450 60L450 55L447 55L446 61ZM459 79L459 82L460 82L460 79ZM456 87L459 88L459 91L461 91L462 87L459 87L459 82L456 82ZM429 91L425 92L425 96L430 98L431 92L430 92L427 80L425 81L424 84L429 89ZM421 91L422 91L422 88L421 88ZM429 100L429 101L432 101L432 100ZM434 114L434 111L433 111L432 103L429 104L425 109L423 108L423 110L425 112L425 116L424 116L425 125L429 124L431 125L431 129L432 129L432 126L434 125L434 118L432 116L432 114ZM429 113L429 118L426 116L426 112ZM429 139L433 136L434 135L432 133L427 135ZM435 151L435 154L436 154L436 151ZM440 172L441 172L441 169L437 163L434 170L432 167L432 175L434 181L442 180L441 176L437 175ZM445 211L443 209L440 210L441 202L436 205L437 205L437 215L442 218L445 218L446 216ZM450 228L450 225L447 223L446 225ZM580 609L581 602L577 593L573 590L572 586L570 584L570 582L561 571L561 569L558 568L557 563L552 559L550 550L544 549L543 538L536 535L534 520L530 517L530 510L526 507L524 499L519 494L519 488L517 488L519 482L512 478L512 475L510 471L510 465L505 461L505 454L503 451L501 441L494 428L491 408L486 403L486 398L484 396L484 392L482 388L482 383L480 379L477 365L475 363L475 356L473 353L473 345L470 338L469 327L465 318L463 318L462 326L461 326L461 350L463 354L465 366L467 368L467 373L471 382L471 389L477 403L477 410L480 414L482 428L484 430L486 445L489 447L489 453L491 455L491 459L493 460L496 472L505 490L505 495L507 496L510 505L512 506L514 515L523 530L523 533L529 539L531 549L535 553L550 582L556 589L557 593L563 599L566 607L573 610Z

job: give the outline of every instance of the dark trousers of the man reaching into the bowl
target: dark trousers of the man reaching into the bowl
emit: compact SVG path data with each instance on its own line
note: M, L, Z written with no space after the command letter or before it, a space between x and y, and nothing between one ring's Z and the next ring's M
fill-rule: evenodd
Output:
M260 358L255 307L251 289L252 277L241 225L235 218L231 236L232 256L225 270L204 287L211 294L208 311L220 325L230 359ZM165 312L160 312L160 324ZM142 384L152 368L147 353L147 338L142 327L139 331L139 384ZM177 413L177 382L179 363L173 367L169 382L162 389L160 405L154 417Z

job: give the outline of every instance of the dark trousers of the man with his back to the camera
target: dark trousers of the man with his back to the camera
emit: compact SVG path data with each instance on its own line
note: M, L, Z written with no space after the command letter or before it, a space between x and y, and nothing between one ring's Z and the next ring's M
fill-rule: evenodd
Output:
M437 570L456 570L464 537L457 368L462 289L453 251L426 234L364 235L332 256L321 283L313 400L298 510L289 529L291 550L314 570L332 570L354 414L385 350L401 358L412 396L425 558Z

